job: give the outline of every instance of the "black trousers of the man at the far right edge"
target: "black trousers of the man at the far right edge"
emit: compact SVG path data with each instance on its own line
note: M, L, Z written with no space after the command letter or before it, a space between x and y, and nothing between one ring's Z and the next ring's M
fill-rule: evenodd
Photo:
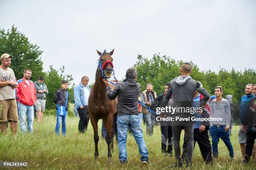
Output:
M256 139L256 132L251 132L251 130L246 133L246 160L249 161L253 151L254 141Z

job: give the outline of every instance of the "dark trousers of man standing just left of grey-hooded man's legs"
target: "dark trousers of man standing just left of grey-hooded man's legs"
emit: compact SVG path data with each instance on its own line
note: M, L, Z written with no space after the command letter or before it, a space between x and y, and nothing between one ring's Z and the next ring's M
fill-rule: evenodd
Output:
M172 126L161 126L161 149L163 153L172 153Z

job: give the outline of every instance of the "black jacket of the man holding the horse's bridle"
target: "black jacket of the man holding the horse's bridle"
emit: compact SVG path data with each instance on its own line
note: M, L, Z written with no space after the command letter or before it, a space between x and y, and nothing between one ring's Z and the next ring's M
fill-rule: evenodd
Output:
M118 96L118 115L138 115L138 96L141 86L134 79L117 83L111 91L107 86L107 95L110 100Z

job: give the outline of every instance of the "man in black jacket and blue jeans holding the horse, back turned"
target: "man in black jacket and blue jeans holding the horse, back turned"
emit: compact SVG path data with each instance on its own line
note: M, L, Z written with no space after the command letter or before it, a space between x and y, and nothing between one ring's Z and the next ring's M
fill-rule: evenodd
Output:
M120 163L127 162L126 140L128 128L131 129L133 136L138 144L141 162L148 164L148 150L143 139L141 129L141 119L138 115L138 95L140 84L136 82L137 70L128 68L126 71L126 80L118 82L115 89L111 91L108 80L104 80L107 85L107 94L110 100L118 96L118 147Z

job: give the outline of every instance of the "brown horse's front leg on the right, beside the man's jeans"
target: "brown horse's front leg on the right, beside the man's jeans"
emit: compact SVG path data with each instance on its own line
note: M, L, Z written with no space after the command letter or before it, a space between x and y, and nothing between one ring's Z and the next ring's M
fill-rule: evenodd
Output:
M112 158L111 158L112 155L111 155L111 152L110 152L110 145L111 145L111 143L113 143L113 140L112 140L112 120L113 120L112 115L108 115L108 117L106 119L103 119L104 125L107 129L106 142L107 142L107 145L108 145L108 160L110 162L112 162Z

